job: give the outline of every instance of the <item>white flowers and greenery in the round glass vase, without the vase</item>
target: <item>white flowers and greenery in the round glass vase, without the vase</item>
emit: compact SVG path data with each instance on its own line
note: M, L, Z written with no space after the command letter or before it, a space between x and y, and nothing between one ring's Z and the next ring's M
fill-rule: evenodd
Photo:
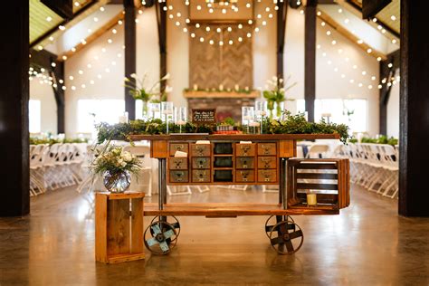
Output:
M138 158L118 146L108 145L102 150L96 150L94 157L90 166L94 175L103 174L106 171L111 174L119 174L125 171L138 174L141 169Z

